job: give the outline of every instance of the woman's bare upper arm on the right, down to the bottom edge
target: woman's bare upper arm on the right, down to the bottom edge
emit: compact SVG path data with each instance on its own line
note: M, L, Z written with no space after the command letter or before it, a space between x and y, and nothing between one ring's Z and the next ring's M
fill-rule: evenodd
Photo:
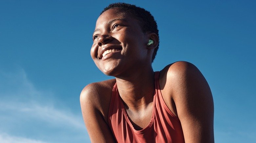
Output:
M168 76L172 79L172 99L185 142L214 142L213 98L202 73L191 63L172 65Z

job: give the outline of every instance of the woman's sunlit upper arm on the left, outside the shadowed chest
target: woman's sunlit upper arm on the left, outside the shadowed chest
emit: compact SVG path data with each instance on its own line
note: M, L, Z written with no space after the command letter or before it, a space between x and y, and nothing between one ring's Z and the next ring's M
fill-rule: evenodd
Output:
M114 136L102 115L102 103L98 88L96 83L89 84L81 92L80 104L84 123L91 142L115 142Z

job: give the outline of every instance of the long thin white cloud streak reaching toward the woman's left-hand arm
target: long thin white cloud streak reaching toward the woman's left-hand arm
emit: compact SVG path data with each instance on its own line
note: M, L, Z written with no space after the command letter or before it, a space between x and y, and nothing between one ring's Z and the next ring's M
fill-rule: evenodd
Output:
M37 101L22 102L0 102L0 112L12 112L19 116L19 113L25 118L37 119L55 125L65 125L72 128L84 130L84 123L81 117L74 115L63 109L57 109L53 105L40 105ZM21 118L21 117L20 117Z

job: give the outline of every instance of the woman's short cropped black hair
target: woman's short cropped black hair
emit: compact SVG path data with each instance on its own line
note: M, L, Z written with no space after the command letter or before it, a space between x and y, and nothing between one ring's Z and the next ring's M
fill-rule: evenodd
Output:
M127 4L127 3L112 3L109 6L107 6L106 8L104 8L102 10L102 12L100 13L100 15L112 8L118 8L118 10L124 12L124 13L129 13L134 15L139 21L140 21L140 26L143 32L154 32L157 34L158 38L159 38L159 34L158 34L158 27L157 27L157 22L154 18L154 16L147 10L145 10L144 8L140 8L137 7L135 5L131 5L131 4ZM152 56L152 63L154 61L154 59L156 58L157 55L157 51L159 48L159 42L157 47L154 50L153 56Z

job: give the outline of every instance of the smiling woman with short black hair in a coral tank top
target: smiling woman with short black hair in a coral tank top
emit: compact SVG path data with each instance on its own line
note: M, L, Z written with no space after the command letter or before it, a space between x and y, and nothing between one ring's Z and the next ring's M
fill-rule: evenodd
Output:
M154 72L156 21L135 5L100 14L91 56L115 79L87 85L80 96L92 142L214 142L213 99L202 73L179 61Z

